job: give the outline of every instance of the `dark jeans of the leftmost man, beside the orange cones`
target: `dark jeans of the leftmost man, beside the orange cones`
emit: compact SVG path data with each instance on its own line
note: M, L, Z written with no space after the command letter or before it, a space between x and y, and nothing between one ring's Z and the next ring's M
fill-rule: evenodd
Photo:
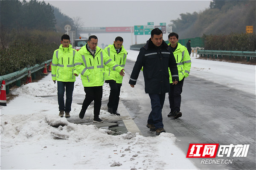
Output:
M59 111L70 112L71 111L71 103L72 103L72 95L74 90L75 82L60 82L57 81L58 86L58 105ZM64 103L64 93L66 87L66 105Z

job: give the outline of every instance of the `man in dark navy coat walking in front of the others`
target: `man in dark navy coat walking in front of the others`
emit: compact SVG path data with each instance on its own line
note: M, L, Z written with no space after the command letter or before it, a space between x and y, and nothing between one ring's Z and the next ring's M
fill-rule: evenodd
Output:
M131 73L129 84L136 85L140 70L143 67L145 93L151 99L151 109L147 127L156 131L157 135L166 132L163 128L162 108L165 94L169 93L169 70L172 73L173 84L179 81L177 63L171 48L163 41L163 33L159 28L151 31L151 38L140 48L140 53Z

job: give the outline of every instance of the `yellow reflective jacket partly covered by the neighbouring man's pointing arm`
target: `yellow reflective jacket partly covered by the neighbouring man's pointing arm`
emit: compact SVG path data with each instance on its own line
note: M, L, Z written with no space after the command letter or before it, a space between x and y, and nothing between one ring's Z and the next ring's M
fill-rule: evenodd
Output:
M114 45L108 45L108 47L106 47L104 51L113 61L116 62L117 65L122 68L125 67L127 51L125 50L123 45L121 51L118 54ZM116 83L122 83L122 78L123 77L117 71L113 71L108 68L108 66L105 66L105 80L115 80Z

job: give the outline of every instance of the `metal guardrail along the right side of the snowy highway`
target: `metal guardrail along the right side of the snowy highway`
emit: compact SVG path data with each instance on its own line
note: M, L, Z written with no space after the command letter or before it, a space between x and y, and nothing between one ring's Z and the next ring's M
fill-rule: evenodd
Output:
M250 60L250 57L256 57L256 51L213 51L213 50L198 50L198 54L204 55L209 58L210 55L212 57L215 56L217 59L218 55L223 56L239 56L239 57L247 57L247 62Z

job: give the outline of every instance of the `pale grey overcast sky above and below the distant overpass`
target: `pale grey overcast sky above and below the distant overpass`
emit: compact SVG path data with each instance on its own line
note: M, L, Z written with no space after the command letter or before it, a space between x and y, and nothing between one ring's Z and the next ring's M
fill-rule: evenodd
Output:
M119 27L147 25L154 22L170 24L177 20L180 14L204 11L209 8L210 0L46 0L61 10L70 18L81 17L84 27ZM130 45L145 43L150 35L135 36L129 33L95 34L98 37L100 48L103 43L113 44L115 37L124 38L123 45L126 49ZM83 38L88 34L81 34ZM71 35L70 35L71 38ZM168 40L168 35L163 35ZM188 37L189 38L189 37ZM71 38L72 39L72 38Z

